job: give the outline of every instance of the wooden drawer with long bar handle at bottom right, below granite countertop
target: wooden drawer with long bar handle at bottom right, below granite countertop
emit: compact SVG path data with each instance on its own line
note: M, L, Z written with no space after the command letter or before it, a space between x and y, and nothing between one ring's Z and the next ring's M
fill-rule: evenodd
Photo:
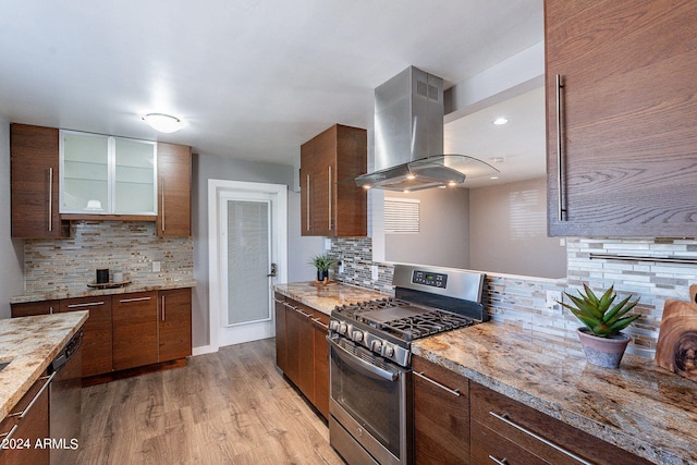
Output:
M473 424L486 426L554 465L649 463L480 384L473 382L469 389ZM486 452L496 455L500 451Z

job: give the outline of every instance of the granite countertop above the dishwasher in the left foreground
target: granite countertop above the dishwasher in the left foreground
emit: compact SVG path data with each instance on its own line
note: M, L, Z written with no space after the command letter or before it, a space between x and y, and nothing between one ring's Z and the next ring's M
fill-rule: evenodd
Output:
M11 413L68 341L87 320L88 311L0 320L0 418Z

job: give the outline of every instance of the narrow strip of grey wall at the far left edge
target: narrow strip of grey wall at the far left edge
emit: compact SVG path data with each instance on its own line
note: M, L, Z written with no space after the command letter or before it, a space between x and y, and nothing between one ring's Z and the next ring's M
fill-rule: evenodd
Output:
M10 297L24 291L24 241L11 238L10 199L10 123L0 119L0 319L10 318Z

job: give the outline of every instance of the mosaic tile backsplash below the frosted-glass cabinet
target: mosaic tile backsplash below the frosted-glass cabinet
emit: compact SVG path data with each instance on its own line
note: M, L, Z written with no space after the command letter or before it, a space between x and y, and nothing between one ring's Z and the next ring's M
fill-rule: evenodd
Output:
M71 237L27 240L24 244L25 291L68 291L95 281L97 268L122 271L145 285L194 279L191 237L157 237L154 222L75 221ZM152 271L152 262L160 271Z

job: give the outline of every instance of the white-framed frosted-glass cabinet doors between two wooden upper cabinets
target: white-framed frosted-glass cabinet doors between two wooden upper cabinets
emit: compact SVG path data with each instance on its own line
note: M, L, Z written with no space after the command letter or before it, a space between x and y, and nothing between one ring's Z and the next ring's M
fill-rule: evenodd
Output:
M61 213L157 215L157 143L61 131Z

